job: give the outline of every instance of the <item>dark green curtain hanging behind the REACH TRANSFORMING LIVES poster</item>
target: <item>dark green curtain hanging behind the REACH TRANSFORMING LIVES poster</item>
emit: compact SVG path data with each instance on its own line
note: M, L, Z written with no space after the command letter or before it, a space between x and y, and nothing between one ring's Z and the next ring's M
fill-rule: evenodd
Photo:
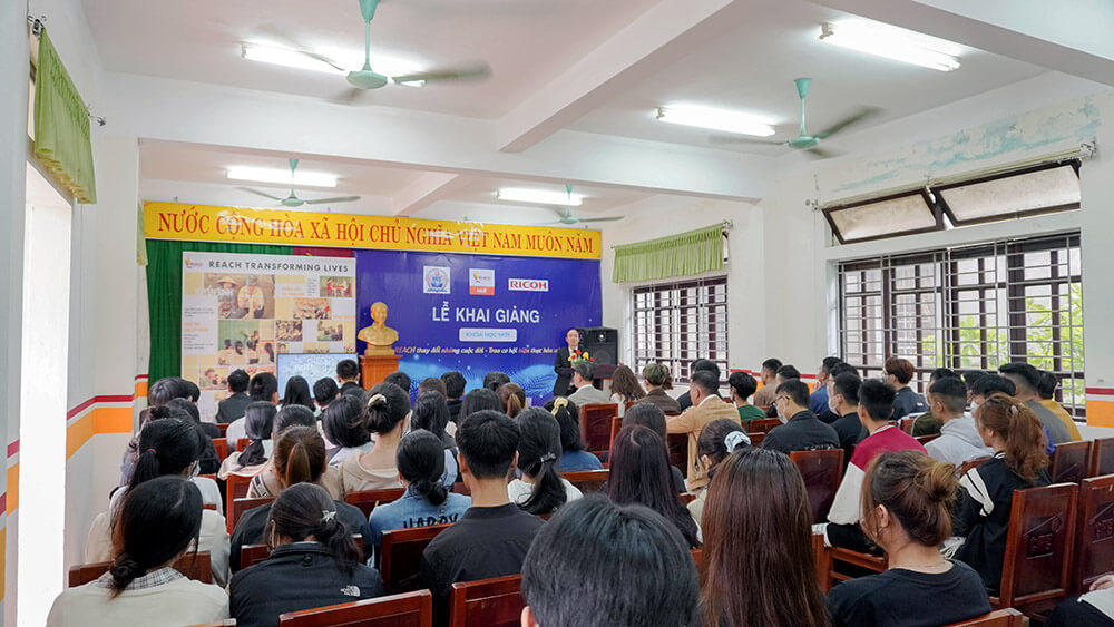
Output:
M148 381L182 373L182 253L290 255L292 246L221 242L147 241L147 313L150 320Z

